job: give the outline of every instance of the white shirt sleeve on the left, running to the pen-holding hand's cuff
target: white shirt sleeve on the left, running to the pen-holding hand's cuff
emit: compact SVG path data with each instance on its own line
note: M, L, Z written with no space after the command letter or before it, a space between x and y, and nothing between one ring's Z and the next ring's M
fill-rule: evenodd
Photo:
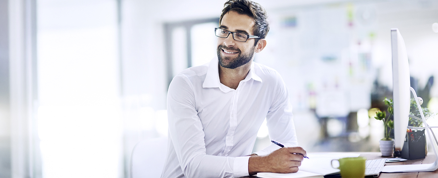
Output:
M248 176L249 157L207 155L205 133L195 109L191 81L177 75L169 86L167 112L169 133L183 174L187 178Z

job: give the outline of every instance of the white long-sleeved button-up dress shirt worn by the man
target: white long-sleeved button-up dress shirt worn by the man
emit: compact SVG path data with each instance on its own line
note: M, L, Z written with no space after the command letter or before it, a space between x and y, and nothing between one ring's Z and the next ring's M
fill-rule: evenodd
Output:
M170 83L167 114L169 142L162 178L248 176L248 155L265 118L270 139L297 146L283 79L255 62L237 89L220 83L217 57L187 68ZM271 144L256 154L279 148Z

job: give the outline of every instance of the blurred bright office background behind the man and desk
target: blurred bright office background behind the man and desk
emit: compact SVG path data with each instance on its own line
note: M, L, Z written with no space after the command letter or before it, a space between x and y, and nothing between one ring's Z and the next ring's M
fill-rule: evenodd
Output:
M0 177L128 177L135 144L167 136L171 78L216 55L224 2L0 0ZM271 30L254 61L283 76L308 152L379 151L391 28L438 113L438 1L256 2ZM262 125L254 151L267 144Z

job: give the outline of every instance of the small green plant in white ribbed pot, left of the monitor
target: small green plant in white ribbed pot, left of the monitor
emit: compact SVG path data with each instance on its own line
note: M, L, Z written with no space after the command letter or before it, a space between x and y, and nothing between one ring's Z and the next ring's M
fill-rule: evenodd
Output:
M394 139L389 137L391 135L391 130L394 128L394 121L391 120L391 116L393 114L393 102L392 99L385 98L383 100L386 105L388 105L388 112L389 115L386 117L385 111L377 111L376 112L376 118L377 120L383 121L383 125L385 125L385 138L379 140L379 146L380 146L380 152L382 153L382 156L392 156L392 153L394 153Z

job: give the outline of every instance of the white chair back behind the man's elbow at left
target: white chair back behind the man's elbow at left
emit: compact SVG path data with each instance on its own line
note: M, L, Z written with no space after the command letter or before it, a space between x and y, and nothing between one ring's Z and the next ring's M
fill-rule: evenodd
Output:
M132 149L130 178L160 178L167 153L167 137L146 139Z

